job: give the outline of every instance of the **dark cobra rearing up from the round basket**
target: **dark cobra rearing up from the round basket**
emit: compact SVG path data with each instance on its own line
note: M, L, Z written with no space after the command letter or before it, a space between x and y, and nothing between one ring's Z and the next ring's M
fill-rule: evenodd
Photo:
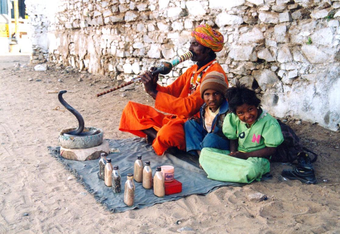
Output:
M84 119L83 116L75 110L72 106L70 106L63 98L63 94L67 93L67 90L61 90L58 93L58 100L60 103L65 106L67 110L69 110L78 120L78 128L74 129L73 131L64 133L64 136L69 136L69 137L75 137L75 136L92 136L98 134L100 131L99 130L92 130L88 132L83 132L84 130Z

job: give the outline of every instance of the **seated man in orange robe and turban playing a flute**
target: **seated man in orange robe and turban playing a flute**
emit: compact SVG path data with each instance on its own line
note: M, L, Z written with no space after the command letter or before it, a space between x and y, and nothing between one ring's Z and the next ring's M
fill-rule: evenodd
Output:
M138 76L144 84L145 91L155 99L155 108L129 102L122 113L119 130L136 136L146 137L158 155L168 148L177 147L186 150L183 124L187 118L198 114L204 103L198 86L205 74L218 71L227 77L216 61L215 52L223 48L223 35L208 25L200 25L191 33L189 51L191 60L197 64L188 68L169 86L157 84L158 75L145 71Z

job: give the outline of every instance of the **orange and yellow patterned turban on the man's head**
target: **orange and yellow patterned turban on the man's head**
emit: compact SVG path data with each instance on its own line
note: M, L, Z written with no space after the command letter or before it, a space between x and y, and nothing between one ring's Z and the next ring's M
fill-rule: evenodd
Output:
M212 29L208 24L197 26L197 28L191 32L191 36L195 37L198 43L211 48L214 52L220 52L223 49L223 35Z

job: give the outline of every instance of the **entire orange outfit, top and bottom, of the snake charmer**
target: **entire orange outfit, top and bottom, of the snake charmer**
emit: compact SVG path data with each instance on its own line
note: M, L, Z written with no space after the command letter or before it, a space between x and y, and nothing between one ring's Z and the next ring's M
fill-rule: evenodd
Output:
M218 71L225 75L222 67L214 60L200 69L197 65L191 66L168 86L157 84L155 108L169 113L167 115L151 106L130 101L123 110L119 130L146 137L142 130L153 128L157 131L157 136L152 146L158 155L162 155L172 146L185 151L183 124L187 118L199 115L200 107L204 103L199 88L190 93L191 79L194 83L200 83L201 79L198 80L198 75L200 74L203 79L210 71ZM228 82L226 76L225 80Z

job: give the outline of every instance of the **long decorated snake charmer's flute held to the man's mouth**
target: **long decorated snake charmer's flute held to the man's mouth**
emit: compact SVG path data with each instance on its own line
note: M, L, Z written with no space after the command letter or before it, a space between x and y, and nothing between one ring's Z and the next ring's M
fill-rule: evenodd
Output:
M190 51L188 51L185 54L182 54L182 55L176 57L170 63L169 62L162 62L162 63L157 64L156 69L154 71L152 71L151 73L154 74L154 75L155 74L166 75L166 74L168 74L171 71L171 69L173 67L175 67L176 65L178 65L180 63L183 63L184 61L190 59L191 57L192 57L192 53ZM104 92L102 92L100 94L97 94L97 97L100 97L100 96L102 96L104 94L111 93L112 91L115 91L117 89L125 87L125 86L127 86L129 84L135 83L135 82L139 81L140 79L141 78L133 79L133 80L131 80L129 82L126 82L124 84L118 85L118 86L116 86L116 87L114 87L112 89L106 90L106 91L104 91Z

